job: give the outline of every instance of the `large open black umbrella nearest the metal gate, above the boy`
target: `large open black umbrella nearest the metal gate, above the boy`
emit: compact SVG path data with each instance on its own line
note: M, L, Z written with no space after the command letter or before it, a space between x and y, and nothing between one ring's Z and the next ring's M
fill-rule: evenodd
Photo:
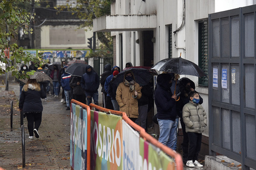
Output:
M182 59L181 57L163 59L157 62L150 69L163 71L163 72L177 73L177 74L194 75L197 77L207 76L202 70L202 68L194 64L194 62L191 62L186 59Z

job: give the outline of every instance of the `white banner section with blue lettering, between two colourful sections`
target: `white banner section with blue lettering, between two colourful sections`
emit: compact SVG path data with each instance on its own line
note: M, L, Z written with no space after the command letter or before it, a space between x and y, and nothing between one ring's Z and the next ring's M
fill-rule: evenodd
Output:
M123 164L124 170L140 169L142 159L139 159L139 134L124 120L123 122Z

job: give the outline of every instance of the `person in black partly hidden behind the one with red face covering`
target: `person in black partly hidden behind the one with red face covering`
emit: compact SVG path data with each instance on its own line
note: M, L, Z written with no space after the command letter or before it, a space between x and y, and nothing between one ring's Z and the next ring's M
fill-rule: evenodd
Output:
M100 85L102 87L101 89L101 92L102 92L102 103L103 103L103 108L106 108L106 98L107 98L107 92L104 88L104 85L105 85L105 81L107 79L107 77L109 75L112 74L112 71L111 71L111 64L106 64L104 66L104 72L100 75L101 78L100 78Z

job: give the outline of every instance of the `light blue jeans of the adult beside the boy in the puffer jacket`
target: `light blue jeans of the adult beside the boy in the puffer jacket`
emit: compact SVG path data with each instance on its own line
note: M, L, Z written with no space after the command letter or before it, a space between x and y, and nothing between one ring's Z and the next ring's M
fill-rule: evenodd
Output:
M174 143L176 141L176 121L169 119L157 118L160 129L159 142L166 145L167 147L175 150Z

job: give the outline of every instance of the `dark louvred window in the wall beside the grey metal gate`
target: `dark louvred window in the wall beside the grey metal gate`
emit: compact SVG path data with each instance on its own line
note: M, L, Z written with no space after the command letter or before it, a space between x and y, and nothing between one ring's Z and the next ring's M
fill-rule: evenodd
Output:
M208 75L208 22L199 23L199 37L198 37L198 59L199 67L202 68L205 74ZM199 78L199 86L208 87L208 77Z

